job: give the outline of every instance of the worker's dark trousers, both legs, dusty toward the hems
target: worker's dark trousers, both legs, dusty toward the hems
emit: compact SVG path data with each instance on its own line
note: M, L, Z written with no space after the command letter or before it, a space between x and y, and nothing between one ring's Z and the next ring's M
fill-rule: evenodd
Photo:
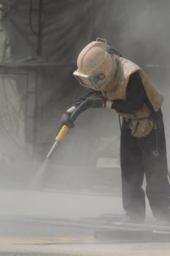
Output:
M157 115L158 130L144 138L134 138L123 121L120 142L123 208L133 219L144 219L145 200L142 183L146 176L146 195L156 218L170 220L170 186L167 176L166 141L161 112ZM156 134L157 132L157 134ZM158 136L156 140L155 136ZM158 143L158 156L153 154Z

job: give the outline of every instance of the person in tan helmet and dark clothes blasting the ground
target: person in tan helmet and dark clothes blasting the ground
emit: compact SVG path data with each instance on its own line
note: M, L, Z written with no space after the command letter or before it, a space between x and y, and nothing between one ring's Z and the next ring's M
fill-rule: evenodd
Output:
M120 167L125 221L144 222L146 192L153 217L170 222L162 94L138 65L110 54L105 39L96 39L82 49L73 75L87 90L63 113L61 124L72 128L70 116L89 97L96 99L90 107L115 110L122 120Z

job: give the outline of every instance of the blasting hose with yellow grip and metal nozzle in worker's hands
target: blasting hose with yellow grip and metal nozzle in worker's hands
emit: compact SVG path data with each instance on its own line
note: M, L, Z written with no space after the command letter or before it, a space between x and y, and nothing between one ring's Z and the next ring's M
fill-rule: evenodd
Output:
M83 111L85 111L88 108L90 108L92 104L93 104L93 99L92 98L88 98L84 102L82 102L82 104L80 104L76 108L74 113L72 113L72 116L70 117L71 123L74 123L74 121L80 115L80 113L82 113ZM53 153L54 153L55 149L57 148L58 143L60 143L61 141L64 140L64 138L66 138L66 135L69 132L69 129L70 128L67 127L65 124L63 125L63 127L61 127L61 129L59 130L58 134L55 137L55 143L53 143L53 146L50 148L50 151L47 154L47 159L50 159L50 157L53 156Z

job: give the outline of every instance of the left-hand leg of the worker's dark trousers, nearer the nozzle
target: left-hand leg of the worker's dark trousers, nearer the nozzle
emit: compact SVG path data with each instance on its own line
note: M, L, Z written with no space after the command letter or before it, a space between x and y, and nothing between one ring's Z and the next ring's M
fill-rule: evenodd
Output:
M128 124L123 121L120 140L123 208L134 221L144 221L145 199L142 184L144 169L141 151L136 138L131 136Z

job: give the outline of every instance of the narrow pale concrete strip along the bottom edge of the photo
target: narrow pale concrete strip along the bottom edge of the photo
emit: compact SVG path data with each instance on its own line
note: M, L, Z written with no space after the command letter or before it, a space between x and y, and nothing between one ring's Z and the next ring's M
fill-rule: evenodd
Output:
M131 245L15 245L0 244L0 255L57 255L57 256L169 256L170 246L167 244Z

